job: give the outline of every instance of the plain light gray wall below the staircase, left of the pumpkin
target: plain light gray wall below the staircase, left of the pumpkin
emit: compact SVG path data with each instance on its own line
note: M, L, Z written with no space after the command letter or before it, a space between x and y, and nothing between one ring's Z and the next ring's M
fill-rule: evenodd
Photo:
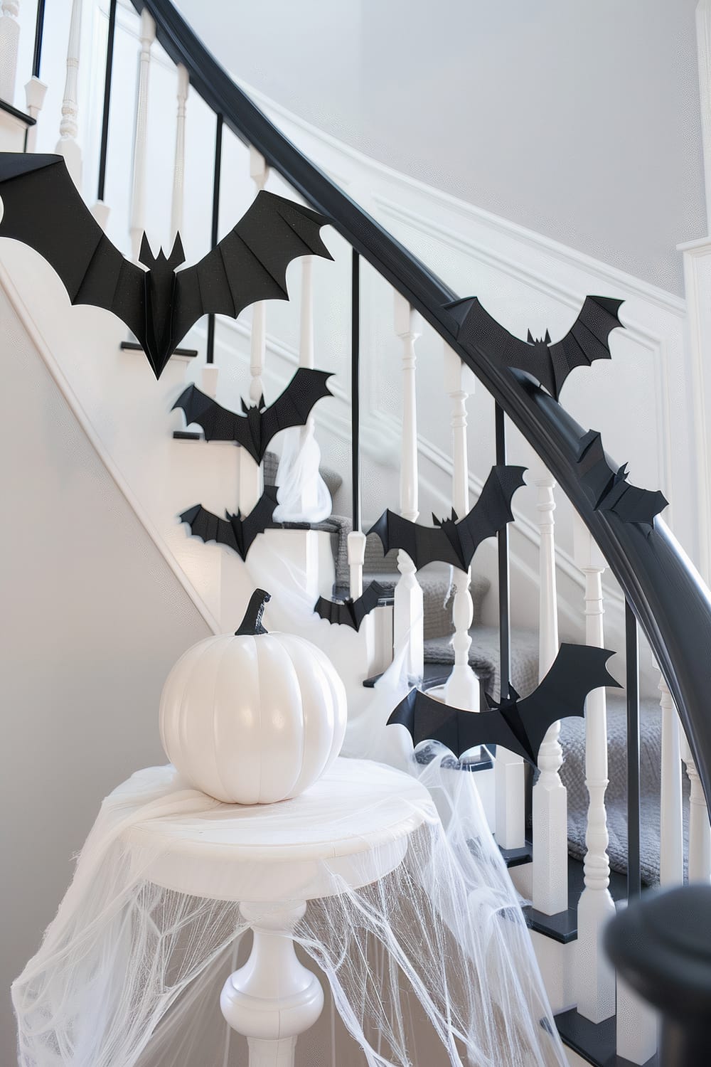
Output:
M38 946L101 798L166 759L158 700L208 627L0 293L0 1064L9 986ZM130 427L126 427L130 433Z

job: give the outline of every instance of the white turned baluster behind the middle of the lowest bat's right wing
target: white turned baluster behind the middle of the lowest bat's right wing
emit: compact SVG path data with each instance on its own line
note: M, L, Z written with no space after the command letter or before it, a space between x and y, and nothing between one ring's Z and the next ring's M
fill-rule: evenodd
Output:
M543 679L558 654L558 599L553 511L555 482L548 472L535 479L540 529L540 600L538 605L538 676ZM553 722L538 750L540 775L533 787L533 907L553 915L568 907L568 807L561 781L561 723Z

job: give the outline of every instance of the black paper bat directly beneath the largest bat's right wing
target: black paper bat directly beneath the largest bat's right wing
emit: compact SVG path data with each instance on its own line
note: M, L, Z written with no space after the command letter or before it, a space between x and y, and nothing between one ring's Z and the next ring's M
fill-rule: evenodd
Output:
M273 404L265 408L263 397L258 404L247 405L243 400L242 415L222 408L196 385L189 385L173 404L173 411L181 408L188 425L201 426L206 441L236 441L261 463L275 433L288 426L304 426L317 400L333 396L326 384L332 377L326 370L300 367Z

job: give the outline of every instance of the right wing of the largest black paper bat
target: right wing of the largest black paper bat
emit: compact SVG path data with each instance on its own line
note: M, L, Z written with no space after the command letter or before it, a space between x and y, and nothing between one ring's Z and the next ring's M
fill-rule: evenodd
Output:
M297 256L332 259L319 230L327 220L260 192L230 233L194 267L176 274L176 345L206 314L229 315L258 300L288 300L287 267Z

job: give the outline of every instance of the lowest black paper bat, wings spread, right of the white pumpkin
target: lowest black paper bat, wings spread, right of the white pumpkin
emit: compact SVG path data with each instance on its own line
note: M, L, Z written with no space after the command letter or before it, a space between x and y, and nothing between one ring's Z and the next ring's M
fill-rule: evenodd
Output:
M535 767L540 743L552 722L583 716L585 698L593 689L603 685L619 688L605 667L613 654L589 644L561 644L551 669L530 697L521 700L511 689L511 697L497 703L487 695L488 712L451 707L411 689L388 726L398 722L406 727L413 745L438 740L457 757L475 745L501 745Z

